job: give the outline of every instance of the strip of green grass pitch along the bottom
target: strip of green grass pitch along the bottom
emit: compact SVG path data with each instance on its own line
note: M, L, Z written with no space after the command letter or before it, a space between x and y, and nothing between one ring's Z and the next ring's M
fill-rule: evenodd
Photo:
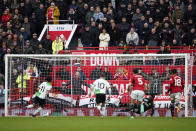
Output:
M0 131L195 131L196 118L1 117Z

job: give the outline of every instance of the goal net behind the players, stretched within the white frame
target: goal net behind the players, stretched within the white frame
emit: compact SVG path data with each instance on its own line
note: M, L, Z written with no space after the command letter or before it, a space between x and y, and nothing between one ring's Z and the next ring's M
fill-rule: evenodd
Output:
M130 116L128 89L132 70L139 68L145 78L145 97L154 94L154 116L171 116L168 94L171 70L185 80L180 100L181 112L175 116L193 116L192 57L188 54L97 54L97 55L6 55L5 116L31 116L38 86L52 77L52 90L40 116L99 116L95 95L89 97L92 83L101 72L112 85L111 99L106 100L106 116ZM107 91L108 95L108 91ZM150 115L151 110L141 114ZM138 114L135 113L137 116Z

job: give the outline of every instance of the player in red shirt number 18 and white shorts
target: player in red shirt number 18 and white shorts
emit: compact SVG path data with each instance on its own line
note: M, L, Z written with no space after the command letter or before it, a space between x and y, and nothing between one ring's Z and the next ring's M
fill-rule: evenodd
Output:
M184 80L182 77L176 75L177 70L172 69L172 76L170 77L169 83L169 92L170 92L170 99L171 99L171 105L170 110L172 116L174 116L174 109L177 107L177 113L180 112L180 99L182 92L184 90Z

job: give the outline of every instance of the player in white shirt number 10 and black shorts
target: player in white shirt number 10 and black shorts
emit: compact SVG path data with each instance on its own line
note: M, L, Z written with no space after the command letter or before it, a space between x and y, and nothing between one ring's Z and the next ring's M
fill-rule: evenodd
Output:
M105 80L105 74L102 73L100 78L94 81L91 87L91 92L89 94L89 96L91 97L91 94L94 91L96 95L96 106L97 106L97 109L100 111L102 118L104 117L104 114L105 114L105 108L106 108L105 101L106 101L106 90L107 89L109 91L108 99L110 99L110 95L111 95L110 84Z

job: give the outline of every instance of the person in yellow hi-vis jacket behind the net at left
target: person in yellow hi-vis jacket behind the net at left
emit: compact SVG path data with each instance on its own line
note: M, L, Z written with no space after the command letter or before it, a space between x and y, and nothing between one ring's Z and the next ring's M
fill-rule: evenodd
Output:
M23 73L23 84L22 84L22 73ZM30 75L26 74L26 70L23 70L20 75L18 75L16 79L16 83L18 84L19 92L21 93L21 87L23 85L23 92L26 93L26 88L28 87L28 80L30 80Z

